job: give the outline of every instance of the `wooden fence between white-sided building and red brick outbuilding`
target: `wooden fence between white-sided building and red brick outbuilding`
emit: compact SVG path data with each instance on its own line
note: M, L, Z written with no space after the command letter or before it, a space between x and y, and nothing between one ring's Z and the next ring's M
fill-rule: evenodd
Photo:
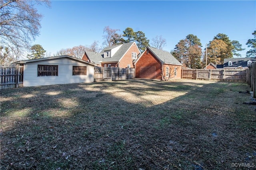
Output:
M127 80L135 78L134 68L94 67L94 81Z

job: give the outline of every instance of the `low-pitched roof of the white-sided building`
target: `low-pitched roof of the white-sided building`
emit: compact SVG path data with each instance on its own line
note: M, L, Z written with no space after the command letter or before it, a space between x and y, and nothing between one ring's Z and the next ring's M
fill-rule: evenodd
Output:
M40 59L30 59L30 60L22 60L22 61L16 61L12 64L26 64L26 63L32 63L32 62L36 62L36 61L44 61L44 60L54 60L54 59L61 59L61 58L68 58L68 59L72 59L74 61L78 61L80 63L86 63L86 64L90 64L92 66L96 66L96 64L93 63L89 63L87 61L78 59L76 57L72 57L70 55L61 55L61 56L54 56L54 57L45 57L45 58L40 58Z

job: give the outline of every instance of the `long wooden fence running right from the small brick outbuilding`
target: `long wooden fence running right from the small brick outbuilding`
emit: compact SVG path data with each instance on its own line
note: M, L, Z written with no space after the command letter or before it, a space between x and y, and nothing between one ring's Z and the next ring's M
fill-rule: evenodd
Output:
M182 69L181 78L246 82L246 70L238 69Z

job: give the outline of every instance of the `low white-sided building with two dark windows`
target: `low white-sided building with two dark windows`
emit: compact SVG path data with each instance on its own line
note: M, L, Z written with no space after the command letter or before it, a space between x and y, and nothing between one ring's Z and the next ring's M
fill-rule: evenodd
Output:
M25 87L94 81L95 64L69 55L17 61L12 64L24 66Z

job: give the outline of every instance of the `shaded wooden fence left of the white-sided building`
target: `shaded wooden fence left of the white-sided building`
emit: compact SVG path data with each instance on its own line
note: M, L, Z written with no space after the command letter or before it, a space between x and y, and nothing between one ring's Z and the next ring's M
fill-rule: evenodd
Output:
M0 76L0 89L23 86L23 66L1 66Z

